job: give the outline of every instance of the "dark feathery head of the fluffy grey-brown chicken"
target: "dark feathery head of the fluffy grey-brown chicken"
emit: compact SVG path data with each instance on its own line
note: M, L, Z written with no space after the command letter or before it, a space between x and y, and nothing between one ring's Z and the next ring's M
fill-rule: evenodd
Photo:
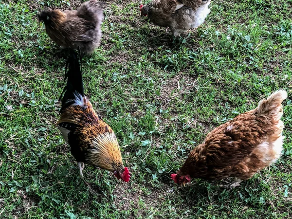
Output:
M45 25L58 24L65 20L66 15L60 10L43 10L38 14L38 19L43 21Z

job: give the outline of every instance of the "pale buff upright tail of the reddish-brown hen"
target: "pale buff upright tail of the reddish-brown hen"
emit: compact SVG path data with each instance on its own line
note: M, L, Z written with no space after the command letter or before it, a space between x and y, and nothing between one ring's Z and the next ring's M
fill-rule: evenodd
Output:
M282 115L282 102L287 98L287 92L284 90L275 91L266 100L261 100L258 103L257 114L265 115L271 118L274 122L278 122Z

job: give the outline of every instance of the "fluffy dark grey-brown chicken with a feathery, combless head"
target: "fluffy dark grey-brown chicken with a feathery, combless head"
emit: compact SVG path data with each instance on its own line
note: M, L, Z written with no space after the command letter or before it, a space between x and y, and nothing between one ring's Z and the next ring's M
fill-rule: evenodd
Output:
M99 45L102 35L102 4L90 0L78 10L43 10L38 18L44 22L48 36L56 44L90 54Z

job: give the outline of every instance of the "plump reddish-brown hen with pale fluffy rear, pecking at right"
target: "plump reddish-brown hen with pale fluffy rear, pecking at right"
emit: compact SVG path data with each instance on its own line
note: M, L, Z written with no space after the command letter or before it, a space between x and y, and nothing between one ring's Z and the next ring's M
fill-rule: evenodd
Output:
M204 142L191 151L177 174L171 174L171 179L185 184L191 178L234 177L235 182L230 187L235 187L273 164L282 151L281 103L286 98L286 91L276 91L260 101L255 110L240 114L209 132Z

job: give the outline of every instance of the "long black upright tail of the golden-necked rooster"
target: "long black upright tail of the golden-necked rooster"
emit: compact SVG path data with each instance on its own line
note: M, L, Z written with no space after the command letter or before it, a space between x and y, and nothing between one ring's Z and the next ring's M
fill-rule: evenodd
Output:
M80 59L81 59L81 56L80 56ZM67 65L66 65L66 70L65 70L65 80L66 79L67 79L67 84L64 87L64 90L61 93L61 96L59 98L59 101L60 101L64 93L60 113L64 109L66 109L67 107L75 103L76 95L78 96L81 95L82 97L84 96L83 79L82 79L82 73L80 70L79 59L78 59L78 55L73 50L71 51L67 60Z

